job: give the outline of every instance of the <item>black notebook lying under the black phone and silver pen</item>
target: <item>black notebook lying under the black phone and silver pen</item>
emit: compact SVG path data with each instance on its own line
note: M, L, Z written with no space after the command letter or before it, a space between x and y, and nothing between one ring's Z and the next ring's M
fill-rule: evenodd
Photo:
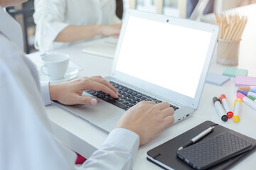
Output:
M191 138L195 137L200 132L203 132L203 130L210 128L210 125L215 125L215 123L210 121L201 123L195 128L192 128L191 130L188 130L183 134L178 135L174 139L169 140L164 144L149 150L149 152L147 152L147 159L150 162L153 162L154 164L157 164L158 166L161 166L164 169L193 169L191 166L188 166L188 164L186 164L177 157L177 150L179 147L181 147L181 145L188 142L188 140L191 140ZM243 152L242 154L238 154L237 156L232 157L230 159L227 159L225 160L225 162L221 162L219 164L216 164L215 166L211 166L210 169L228 169L256 150L256 140L252 139L251 137L242 135L238 132L235 132L233 130L230 130L228 128L225 128L221 125L215 125L213 132L210 132L208 135L206 135L206 137L203 137L203 139L201 140L210 139L211 137L220 135L223 132L232 132L235 135L238 135L238 137L241 137L242 139L245 139L246 141L250 142L252 146L250 147L250 150Z

